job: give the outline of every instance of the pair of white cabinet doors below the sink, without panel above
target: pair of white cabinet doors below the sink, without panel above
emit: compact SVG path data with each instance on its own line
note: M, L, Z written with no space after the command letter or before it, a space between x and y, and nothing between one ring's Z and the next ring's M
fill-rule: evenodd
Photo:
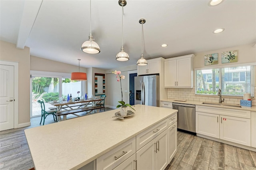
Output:
M196 112L196 133L198 134L251 146L250 126L248 118Z

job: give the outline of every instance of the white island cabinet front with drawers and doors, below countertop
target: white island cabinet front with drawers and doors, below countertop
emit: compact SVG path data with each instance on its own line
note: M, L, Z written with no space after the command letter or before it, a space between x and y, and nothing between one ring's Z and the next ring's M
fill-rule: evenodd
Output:
M164 170L176 152L177 113L174 113L97 158L96 169Z

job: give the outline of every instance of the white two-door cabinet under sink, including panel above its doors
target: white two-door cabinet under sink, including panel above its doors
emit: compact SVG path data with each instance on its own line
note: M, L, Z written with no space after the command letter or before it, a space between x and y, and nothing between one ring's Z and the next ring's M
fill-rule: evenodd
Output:
M251 146L250 111L196 106L196 133Z

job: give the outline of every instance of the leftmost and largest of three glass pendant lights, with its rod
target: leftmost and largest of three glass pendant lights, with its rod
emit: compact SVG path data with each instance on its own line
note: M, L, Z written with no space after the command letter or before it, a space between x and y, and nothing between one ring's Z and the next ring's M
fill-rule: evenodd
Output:
M94 41L92 37L92 16L91 16L91 0L90 0L90 36L89 40L82 44L81 50L89 54L98 54L100 46Z

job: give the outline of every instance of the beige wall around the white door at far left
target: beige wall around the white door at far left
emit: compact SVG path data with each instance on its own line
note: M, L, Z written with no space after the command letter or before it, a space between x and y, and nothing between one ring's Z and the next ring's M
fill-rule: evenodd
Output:
M30 49L16 48L15 44L0 41L0 60L19 63L18 124L30 122ZM16 110L14 112L17 112Z

